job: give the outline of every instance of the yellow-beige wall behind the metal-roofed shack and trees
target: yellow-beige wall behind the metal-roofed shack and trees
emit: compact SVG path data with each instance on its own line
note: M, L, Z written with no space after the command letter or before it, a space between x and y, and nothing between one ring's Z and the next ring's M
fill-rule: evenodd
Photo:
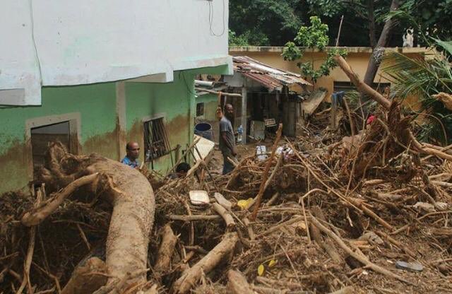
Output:
M366 73L367 64L371 56L372 49L369 47L344 47L347 49L347 62L352 66L352 69L358 74L360 78L364 78ZM420 55L426 52L424 48L391 48L402 52L410 57ZM292 71L294 73L299 73L299 68L297 63L299 61L285 61L281 54L283 53L283 47L230 47L229 51L232 56L248 56L258 61L268 64L277 69L284 69L287 71ZM307 50L304 53L304 57L301 60L312 61L314 60L314 68L318 69L323 60L326 59L325 52L314 52L313 50ZM329 76L319 78L317 83L314 85L314 89L323 87L328 90L327 98L333 93L333 83L334 81L347 82L350 81L345 73L339 69L333 69ZM309 81L311 82L311 81ZM388 83L389 81L383 77L381 70L376 73L375 83Z

